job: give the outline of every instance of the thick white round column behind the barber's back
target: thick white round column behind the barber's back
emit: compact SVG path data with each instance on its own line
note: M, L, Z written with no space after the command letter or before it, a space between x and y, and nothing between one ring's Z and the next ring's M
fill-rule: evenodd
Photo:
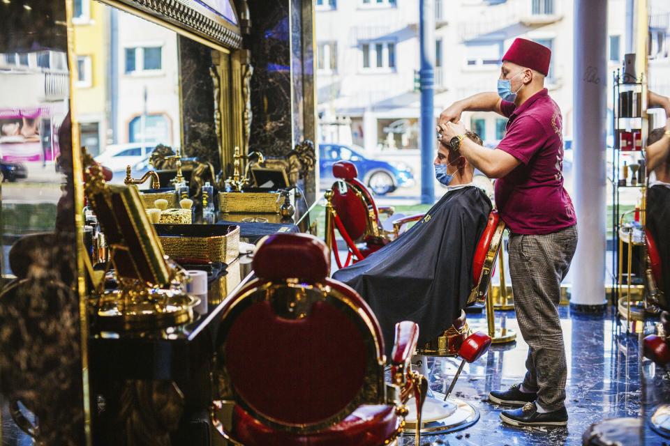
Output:
M574 0L574 207L571 306L604 309L607 0Z

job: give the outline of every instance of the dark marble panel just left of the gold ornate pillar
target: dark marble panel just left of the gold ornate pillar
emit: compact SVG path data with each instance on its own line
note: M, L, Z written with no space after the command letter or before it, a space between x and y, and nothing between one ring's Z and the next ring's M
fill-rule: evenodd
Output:
M178 39L184 153L211 162L218 172L221 155L214 126L214 84L209 75L211 49L184 36Z

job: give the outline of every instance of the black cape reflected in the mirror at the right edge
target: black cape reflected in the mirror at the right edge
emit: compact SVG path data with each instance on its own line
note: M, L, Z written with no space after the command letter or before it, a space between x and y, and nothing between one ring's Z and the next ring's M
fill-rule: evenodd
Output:
M670 293L670 187L652 185L647 191L647 229L656 242L661 257L663 284L658 284L665 295ZM664 308L670 311L670 308Z

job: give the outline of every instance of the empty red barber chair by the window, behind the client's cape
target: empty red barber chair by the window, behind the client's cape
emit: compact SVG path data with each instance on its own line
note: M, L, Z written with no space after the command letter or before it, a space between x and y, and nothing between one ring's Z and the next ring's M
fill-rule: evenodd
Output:
M405 224L424 217L423 214L393 216L392 206L378 207L368 188L358 180L358 171L352 162L333 164L333 175L338 180L332 190L326 192L326 244L333 249L338 268L364 259L397 238ZM388 215L384 222L380 220L380 214ZM335 228L348 248L347 259L343 262L338 254Z

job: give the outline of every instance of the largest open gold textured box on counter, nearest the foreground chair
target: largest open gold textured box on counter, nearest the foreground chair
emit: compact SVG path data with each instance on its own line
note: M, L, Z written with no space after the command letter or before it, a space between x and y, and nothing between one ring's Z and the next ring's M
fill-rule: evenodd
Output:
M239 255L234 224L155 224L165 254L173 259L230 263Z

